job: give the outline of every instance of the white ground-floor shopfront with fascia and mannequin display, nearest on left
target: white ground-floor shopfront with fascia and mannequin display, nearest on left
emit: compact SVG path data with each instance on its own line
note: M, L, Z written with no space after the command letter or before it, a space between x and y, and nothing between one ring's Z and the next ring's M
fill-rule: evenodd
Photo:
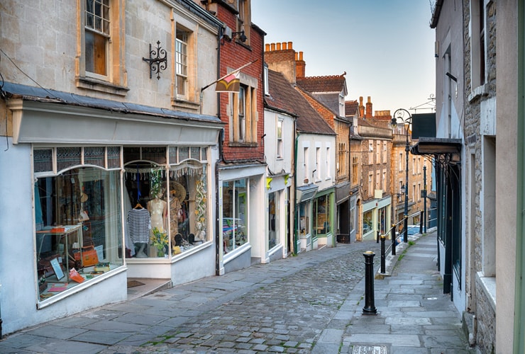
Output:
M21 95L0 171L1 197L18 200L0 213L7 333L121 302L128 278L214 275L217 118L4 89Z

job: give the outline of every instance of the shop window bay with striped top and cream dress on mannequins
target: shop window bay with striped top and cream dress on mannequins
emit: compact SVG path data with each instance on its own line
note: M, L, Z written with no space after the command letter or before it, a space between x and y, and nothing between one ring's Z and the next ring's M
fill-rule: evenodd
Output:
M126 248L135 258L170 258L209 241L204 147L124 148ZM169 168L153 159L166 159ZM128 155L129 154L129 155ZM192 155L196 159L189 159ZM142 160L136 160L140 156ZM149 158L149 159L148 159ZM198 158L198 159L197 159Z

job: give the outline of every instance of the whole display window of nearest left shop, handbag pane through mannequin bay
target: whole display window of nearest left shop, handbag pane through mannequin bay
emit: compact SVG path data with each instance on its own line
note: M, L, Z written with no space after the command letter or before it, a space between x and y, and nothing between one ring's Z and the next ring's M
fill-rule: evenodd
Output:
M40 301L209 241L207 147L35 147Z

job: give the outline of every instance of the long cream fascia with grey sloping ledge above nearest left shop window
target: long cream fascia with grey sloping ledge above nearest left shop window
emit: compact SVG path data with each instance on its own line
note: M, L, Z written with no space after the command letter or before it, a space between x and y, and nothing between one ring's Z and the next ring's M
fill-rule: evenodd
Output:
M13 144L186 144L218 142L216 116L80 96L6 82Z

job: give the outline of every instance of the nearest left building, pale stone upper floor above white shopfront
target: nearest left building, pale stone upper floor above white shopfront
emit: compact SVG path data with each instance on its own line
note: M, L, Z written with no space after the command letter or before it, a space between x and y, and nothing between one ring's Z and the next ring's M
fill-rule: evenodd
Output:
M189 0L2 8L4 333L121 302L129 278L214 275L223 124L200 88L221 22Z

